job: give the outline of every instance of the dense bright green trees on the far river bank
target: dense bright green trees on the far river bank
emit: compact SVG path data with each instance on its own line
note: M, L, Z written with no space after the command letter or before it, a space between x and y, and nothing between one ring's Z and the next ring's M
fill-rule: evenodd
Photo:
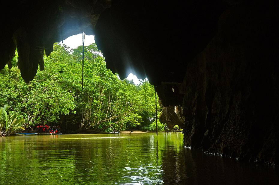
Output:
M82 46L70 50L55 44L45 69L26 84L16 67L0 72L0 106L25 119L24 127L60 125L64 128L90 128L98 131L123 129L154 130L155 91L148 80L139 85L120 80L106 68L96 44L85 46L82 88ZM160 109L160 107L158 108Z

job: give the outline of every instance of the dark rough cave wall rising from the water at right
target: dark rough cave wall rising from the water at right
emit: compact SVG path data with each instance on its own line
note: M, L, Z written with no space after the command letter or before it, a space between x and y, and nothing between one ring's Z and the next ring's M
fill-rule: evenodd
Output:
M278 19L260 9L220 16L218 33L185 68L186 146L278 163L279 30L273 24Z

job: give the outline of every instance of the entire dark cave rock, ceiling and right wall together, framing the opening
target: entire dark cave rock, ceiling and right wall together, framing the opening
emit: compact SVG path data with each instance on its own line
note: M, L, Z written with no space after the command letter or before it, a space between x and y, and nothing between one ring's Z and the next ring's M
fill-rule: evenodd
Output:
M165 107L183 108L185 145L278 164L278 1L7 3L0 69L17 46L29 82L54 42L95 34L109 69L148 77Z

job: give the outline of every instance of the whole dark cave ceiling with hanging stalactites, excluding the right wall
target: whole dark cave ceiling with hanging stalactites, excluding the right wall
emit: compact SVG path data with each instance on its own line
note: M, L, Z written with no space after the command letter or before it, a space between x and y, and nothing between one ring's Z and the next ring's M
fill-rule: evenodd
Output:
M18 67L28 83L38 66L44 69L43 54L52 52L53 43L84 32L95 35L107 68L121 79L130 72L141 79L147 77L161 97L175 96L171 101L178 104L180 95L171 90L176 90L187 64L217 33L221 13L265 4L237 0L9 1L7 11L1 12L0 69L10 64L17 47ZM165 89L158 88L162 84Z

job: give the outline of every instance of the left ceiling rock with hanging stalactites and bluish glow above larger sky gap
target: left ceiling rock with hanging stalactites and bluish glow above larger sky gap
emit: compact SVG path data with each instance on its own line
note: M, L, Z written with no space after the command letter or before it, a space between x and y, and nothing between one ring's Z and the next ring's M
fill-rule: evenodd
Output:
M44 70L43 54L48 56L53 43L74 34L95 34L95 25L110 0L98 1L7 1L1 11L0 69L18 49L18 67L28 83L38 70Z

